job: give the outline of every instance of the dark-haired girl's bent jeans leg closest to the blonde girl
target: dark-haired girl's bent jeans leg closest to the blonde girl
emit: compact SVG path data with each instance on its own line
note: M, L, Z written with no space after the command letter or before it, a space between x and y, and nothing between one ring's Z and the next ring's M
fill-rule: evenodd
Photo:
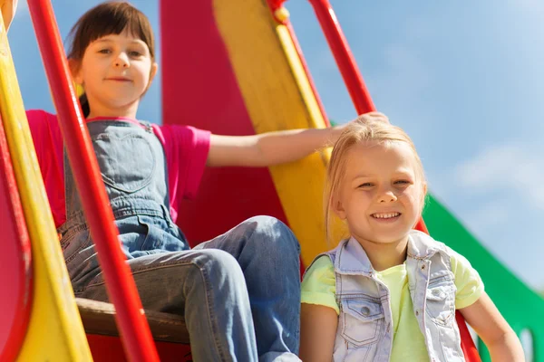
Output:
M300 246L291 230L257 216L193 250L220 249L238 261L248 284L260 361L298 361Z

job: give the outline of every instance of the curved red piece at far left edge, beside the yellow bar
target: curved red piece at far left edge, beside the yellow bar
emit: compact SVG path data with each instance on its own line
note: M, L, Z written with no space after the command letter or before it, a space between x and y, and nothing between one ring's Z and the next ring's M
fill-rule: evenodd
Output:
M33 297L32 249L14 169L0 122L0 361L14 361L28 328Z

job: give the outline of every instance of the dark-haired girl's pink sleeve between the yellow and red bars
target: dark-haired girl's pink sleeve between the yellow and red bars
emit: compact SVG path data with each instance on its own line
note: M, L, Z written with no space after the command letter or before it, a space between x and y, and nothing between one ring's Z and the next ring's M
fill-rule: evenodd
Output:
M56 116L44 110L26 111L28 126L44 178L45 191L56 227L66 220L64 203L63 138Z

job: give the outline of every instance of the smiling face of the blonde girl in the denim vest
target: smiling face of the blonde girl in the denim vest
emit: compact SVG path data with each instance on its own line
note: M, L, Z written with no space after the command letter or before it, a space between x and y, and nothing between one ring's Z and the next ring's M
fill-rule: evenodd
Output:
M421 216L426 185L403 142L359 142L346 153L333 210L359 243L399 243Z

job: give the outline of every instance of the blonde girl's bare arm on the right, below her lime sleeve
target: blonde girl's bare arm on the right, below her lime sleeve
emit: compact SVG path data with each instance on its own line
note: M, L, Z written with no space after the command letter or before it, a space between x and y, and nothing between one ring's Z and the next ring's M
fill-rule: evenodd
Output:
M460 311L490 350L493 362L525 361L520 339L502 318L487 293L483 292L479 300Z

